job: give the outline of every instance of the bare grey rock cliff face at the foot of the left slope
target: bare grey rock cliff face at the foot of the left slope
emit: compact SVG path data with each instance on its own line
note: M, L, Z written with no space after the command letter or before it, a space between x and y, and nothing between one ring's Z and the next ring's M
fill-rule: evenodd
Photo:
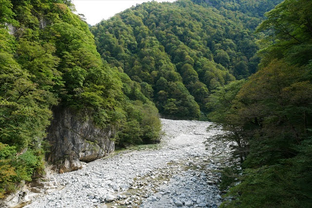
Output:
M110 140L114 130L100 129L91 120L83 120L62 107L55 108L53 115L46 137L52 146L47 158L58 172L81 169L81 162L99 159L115 150L115 143Z

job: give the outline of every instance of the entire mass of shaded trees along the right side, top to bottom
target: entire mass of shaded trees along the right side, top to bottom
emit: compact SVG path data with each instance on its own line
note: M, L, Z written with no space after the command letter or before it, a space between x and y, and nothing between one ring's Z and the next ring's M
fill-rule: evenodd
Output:
M237 200L223 207L312 206L311 13L311 0L268 12L257 27L271 34L262 39L259 71L209 97L209 117L228 131L219 136L236 142L243 168L225 171L224 188L238 185L228 194Z

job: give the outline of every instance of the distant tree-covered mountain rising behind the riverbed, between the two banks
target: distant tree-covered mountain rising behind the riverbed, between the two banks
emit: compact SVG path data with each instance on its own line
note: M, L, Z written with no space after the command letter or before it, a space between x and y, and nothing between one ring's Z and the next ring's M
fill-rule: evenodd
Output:
M262 16L250 14L279 1L263 2L148 2L91 32L101 57L137 81L161 114L198 119L212 90L256 72Z

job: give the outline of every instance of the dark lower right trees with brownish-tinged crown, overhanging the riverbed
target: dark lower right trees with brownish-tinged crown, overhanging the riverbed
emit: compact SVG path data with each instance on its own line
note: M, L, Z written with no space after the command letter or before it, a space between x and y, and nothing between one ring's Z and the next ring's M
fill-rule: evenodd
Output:
M238 94L220 89L210 96L214 103L210 106L218 109L210 116L230 131L225 136L236 141L234 153L244 168L241 183L230 191L238 200L223 206L311 206L311 189L299 183L311 180L299 172L310 169L305 162L310 154L301 152L310 147L312 84L306 80L308 74L306 67L273 60L234 89Z

